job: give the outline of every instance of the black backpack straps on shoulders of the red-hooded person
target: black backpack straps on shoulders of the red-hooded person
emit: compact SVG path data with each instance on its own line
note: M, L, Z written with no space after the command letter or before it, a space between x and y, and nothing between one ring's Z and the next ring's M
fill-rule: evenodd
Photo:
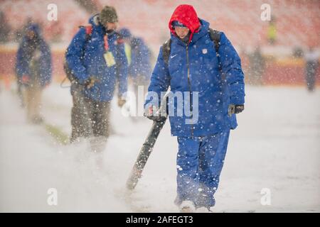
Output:
M213 43L215 43L215 52L218 57L219 70L221 70L220 58L218 55L218 50L220 47L220 31L216 31L216 30L213 30L212 28L209 28L208 33L210 35L210 39L213 41ZM166 62L166 65L168 65L169 63L170 52L171 52L171 38L162 45L162 57L164 58L164 62Z

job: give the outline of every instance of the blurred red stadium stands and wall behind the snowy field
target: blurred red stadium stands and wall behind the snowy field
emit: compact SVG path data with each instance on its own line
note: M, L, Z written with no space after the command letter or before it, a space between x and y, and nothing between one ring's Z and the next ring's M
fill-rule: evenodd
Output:
M58 6L58 20L48 21L48 4ZM304 82L303 52L319 50L320 1L249 1L249 0L1 0L0 1L0 78L7 86L14 78L14 62L23 27L28 21L40 23L53 52L53 76L61 81L65 49L78 26L86 25L90 15L105 5L114 6L119 27L129 28L144 38L154 58L169 38L168 21L179 4L192 4L198 16L210 27L224 31L235 45L249 84L294 85ZM270 4L272 22L262 21L262 4ZM261 51L263 69L257 82L253 79L254 50ZM259 63L259 62L258 62ZM251 70L250 70L251 69ZM319 70L318 70L319 71ZM319 72L316 83L320 84Z

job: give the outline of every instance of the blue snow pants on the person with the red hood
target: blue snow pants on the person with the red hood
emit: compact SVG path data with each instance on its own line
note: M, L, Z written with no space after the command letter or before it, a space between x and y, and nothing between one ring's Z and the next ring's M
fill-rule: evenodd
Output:
M196 207L215 205L230 130L204 137L178 137L175 203L193 201Z

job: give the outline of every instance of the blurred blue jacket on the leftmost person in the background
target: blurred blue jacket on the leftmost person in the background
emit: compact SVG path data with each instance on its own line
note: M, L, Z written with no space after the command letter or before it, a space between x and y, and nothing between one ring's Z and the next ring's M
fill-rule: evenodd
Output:
M35 55L36 50L38 50L40 52L40 83L41 86L45 86L51 82L52 62L50 48L46 41L43 40L40 28L36 23L32 23L27 28L27 31L33 31L36 34L38 41L36 42L36 45L34 45L34 48L32 48L31 46L34 43L34 40L30 40L26 35L24 35L16 54L16 76L17 79L21 79L23 75L28 75L28 77L35 76L31 73L30 62L32 57Z

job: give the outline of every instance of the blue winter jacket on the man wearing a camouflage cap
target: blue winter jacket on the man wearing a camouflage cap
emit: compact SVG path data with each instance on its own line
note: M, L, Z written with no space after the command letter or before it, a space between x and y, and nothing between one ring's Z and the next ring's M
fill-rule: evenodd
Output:
M116 64L109 67L105 60L105 27L97 22L97 15L89 19L92 26L90 37L86 29L80 31L71 41L65 55L68 67L84 84L89 77L96 79L95 85L90 89L85 88L84 94L95 101L110 101L114 94L115 84L119 80L119 96L127 92L128 62L124 52L124 43L117 33L107 35L109 48Z

